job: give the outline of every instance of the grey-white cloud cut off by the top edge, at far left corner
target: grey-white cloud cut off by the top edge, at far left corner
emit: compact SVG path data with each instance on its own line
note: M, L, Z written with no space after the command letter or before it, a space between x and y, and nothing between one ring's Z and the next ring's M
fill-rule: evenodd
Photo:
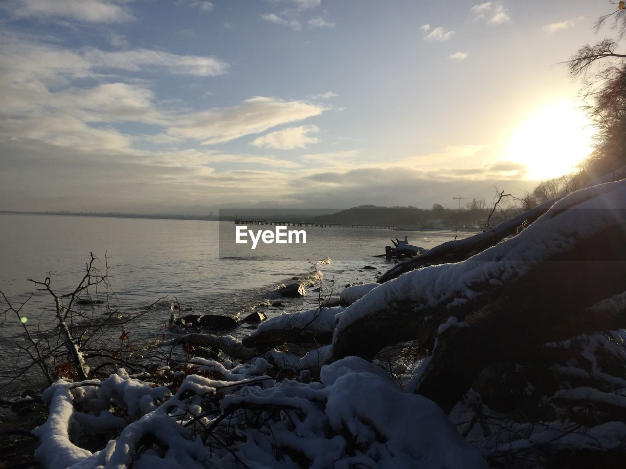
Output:
M121 23L134 19L128 9L109 0L13 0L4 9L15 19L69 18L85 23Z

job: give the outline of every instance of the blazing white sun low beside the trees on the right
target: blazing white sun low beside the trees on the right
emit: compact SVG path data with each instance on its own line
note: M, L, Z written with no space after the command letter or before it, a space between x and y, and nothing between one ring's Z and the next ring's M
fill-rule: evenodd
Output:
M531 114L513 133L506 148L508 161L528 168L526 179L563 176L592 151L590 121L573 101L556 101Z

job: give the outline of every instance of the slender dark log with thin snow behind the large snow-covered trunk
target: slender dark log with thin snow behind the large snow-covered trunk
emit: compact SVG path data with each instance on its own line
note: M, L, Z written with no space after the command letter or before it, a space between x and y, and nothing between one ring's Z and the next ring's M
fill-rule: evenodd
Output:
M626 166L613 171L613 173L606 174L602 178L596 179L592 183L587 184L587 187L596 186L610 181L618 181L622 178L626 178ZM552 199L538 205L535 208L515 216L514 218L498 224L495 228L483 231L483 233L478 233L478 235L470 236L469 238L464 238L463 240L448 241L447 243L435 246L431 250L428 250L425 253L409 260L403 261L389 269L378 278L377 282L385 283L386 281L399 277L403 273L429 265L464 261L476 253L480 253L491 246L495 246L507 236L515 235L520 226L523 226L525 222L533 223L541 215L546 213L546 211L548 211L548 209L558 200L558 198Z

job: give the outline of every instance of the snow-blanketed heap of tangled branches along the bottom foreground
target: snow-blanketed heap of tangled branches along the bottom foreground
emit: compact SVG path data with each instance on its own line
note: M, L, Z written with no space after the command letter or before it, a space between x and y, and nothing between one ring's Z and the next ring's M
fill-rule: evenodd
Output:
M261 358L194 365L173 396L121 370L101 382L59 381L46 391L51 413L35 430L36 456L49 469L486 468L433 402L360 358L325 366L310 384L275 383ZM73 433L111 430L117 436L95 453L74 443Z

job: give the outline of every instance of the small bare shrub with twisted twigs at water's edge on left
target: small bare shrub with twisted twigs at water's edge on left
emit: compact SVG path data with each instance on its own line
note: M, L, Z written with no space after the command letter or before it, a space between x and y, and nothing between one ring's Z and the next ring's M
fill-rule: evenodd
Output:
M51 296L54 304L56 326L37 336L31 333L28 318L23 315L24 306L35 293L17 305L0 291L5 305L4 317L11 313L19 321L26 338L26 345L16 344L18 361L11 380L3 387L19 385L33 369L38 369L47 383L53 383L59 377L86 380L95 375L108 375L120 365L130 370L143 369L137 359L145 357L135 350L130 333L123 327L143 316L156 301L135 315L120 315L120 311L110 305L115 293L110 284L113 276L106 255L101 270L98 263L100 260L90 253L81 280L69 293L58 293L53 289L49 274L43 281L28 279L37 291Z

